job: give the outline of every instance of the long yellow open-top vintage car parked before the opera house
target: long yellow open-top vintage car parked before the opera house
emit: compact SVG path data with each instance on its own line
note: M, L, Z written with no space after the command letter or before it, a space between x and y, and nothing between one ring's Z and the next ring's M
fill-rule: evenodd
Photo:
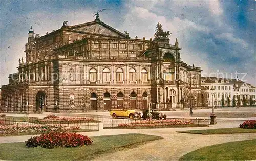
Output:
M116 118L126 118L129 117L130 119L140 119L141 113L140 111L133 109L133 110L122 110L122 109L112 109L109 110L110 115L116 119Z

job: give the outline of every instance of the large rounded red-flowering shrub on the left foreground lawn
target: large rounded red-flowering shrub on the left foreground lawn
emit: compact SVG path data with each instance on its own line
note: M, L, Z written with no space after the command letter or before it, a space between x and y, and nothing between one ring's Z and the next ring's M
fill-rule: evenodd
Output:
M84 145L91 145L92 140L88 136L77 133L68 132L50 132L40 136L31 137L25 144L26 147L42 147L42 148L55 148L55 147L79 147Z

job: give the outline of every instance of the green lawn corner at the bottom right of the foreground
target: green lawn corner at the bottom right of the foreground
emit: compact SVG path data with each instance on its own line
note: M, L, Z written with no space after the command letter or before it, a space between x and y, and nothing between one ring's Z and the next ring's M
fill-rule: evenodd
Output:
M256 139L212 145L187 153L179 160L256 160Z

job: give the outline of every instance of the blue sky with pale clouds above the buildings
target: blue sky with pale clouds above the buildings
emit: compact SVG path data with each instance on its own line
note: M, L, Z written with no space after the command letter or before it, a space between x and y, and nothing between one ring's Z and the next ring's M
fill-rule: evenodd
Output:
M203 70L203 76L235 77L256 85L256 1L11 1L0 2L0 85L17 72L18 58L25 57L28 29L40 36L69 25L100 18L130 37L154 38L155 26L178 38L181 59ZM8 48L10 47L10 48ZM211 74L212 73L212 74Z

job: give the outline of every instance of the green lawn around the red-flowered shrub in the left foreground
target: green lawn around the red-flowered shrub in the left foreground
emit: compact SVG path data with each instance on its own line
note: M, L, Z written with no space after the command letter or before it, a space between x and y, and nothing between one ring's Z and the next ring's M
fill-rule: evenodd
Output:
M91 137L93 144L78 148L26 148L25 143L0 144L2 160L91 160L105 152L136 147L148 141L162 139L144 134L121 134ZM117 156L118 157L118 156Z

